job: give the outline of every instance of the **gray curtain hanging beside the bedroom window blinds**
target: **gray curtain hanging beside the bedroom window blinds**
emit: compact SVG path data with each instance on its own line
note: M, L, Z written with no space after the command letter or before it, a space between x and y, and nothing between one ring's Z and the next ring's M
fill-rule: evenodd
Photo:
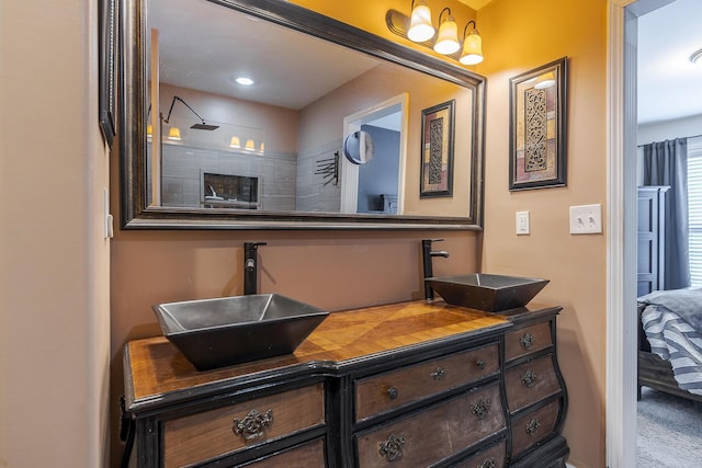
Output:
M688 256L688 140L644 145L644 185L669 185L666 207L665 289L690 286Z

